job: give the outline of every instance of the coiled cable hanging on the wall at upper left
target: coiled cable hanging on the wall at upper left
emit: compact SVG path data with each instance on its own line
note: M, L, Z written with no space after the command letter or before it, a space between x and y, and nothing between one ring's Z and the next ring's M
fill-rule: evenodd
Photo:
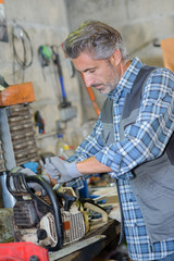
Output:
M17 40L17 41L16 41ZM17 52L16 42L22 44L23 47L23 58L21 58L21 52ZM30 38L26 30L20 26L15 25L12 33L12 47L13 47L13 82L15 83L15 61L23 71L23 82L24 72L33 64L34 51L30 42ZM29 57L29 59L28 59Z

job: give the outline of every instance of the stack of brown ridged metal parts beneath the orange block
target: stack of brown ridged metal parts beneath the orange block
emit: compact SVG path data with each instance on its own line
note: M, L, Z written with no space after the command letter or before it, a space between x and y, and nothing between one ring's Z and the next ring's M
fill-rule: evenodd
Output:
M15 165L21 165L28 161L37 161L39 156L29 104L7 107L5 112Z

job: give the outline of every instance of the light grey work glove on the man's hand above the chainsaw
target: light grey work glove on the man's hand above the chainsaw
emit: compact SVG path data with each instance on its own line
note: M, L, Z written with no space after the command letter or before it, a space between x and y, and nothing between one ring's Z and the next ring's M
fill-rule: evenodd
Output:
M59 183L66 183L82 176L75 162L70 163L58 157L47 158L45 169L51 178L57 179Z

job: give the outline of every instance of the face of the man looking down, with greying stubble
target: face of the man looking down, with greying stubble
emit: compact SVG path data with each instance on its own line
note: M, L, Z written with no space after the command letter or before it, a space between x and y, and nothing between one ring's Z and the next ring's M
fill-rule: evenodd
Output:
M82 52L72 60L74 66L84 76L87 87L95 87L101 94L109 94L119 84L120 73L109 60L94 60L87 52Z

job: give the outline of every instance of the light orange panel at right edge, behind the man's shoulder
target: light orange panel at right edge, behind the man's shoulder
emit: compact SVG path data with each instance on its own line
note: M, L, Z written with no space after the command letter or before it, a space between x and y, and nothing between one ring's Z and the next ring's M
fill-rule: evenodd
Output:
M161 49L164 66L174 73L174 37L162 39Z

